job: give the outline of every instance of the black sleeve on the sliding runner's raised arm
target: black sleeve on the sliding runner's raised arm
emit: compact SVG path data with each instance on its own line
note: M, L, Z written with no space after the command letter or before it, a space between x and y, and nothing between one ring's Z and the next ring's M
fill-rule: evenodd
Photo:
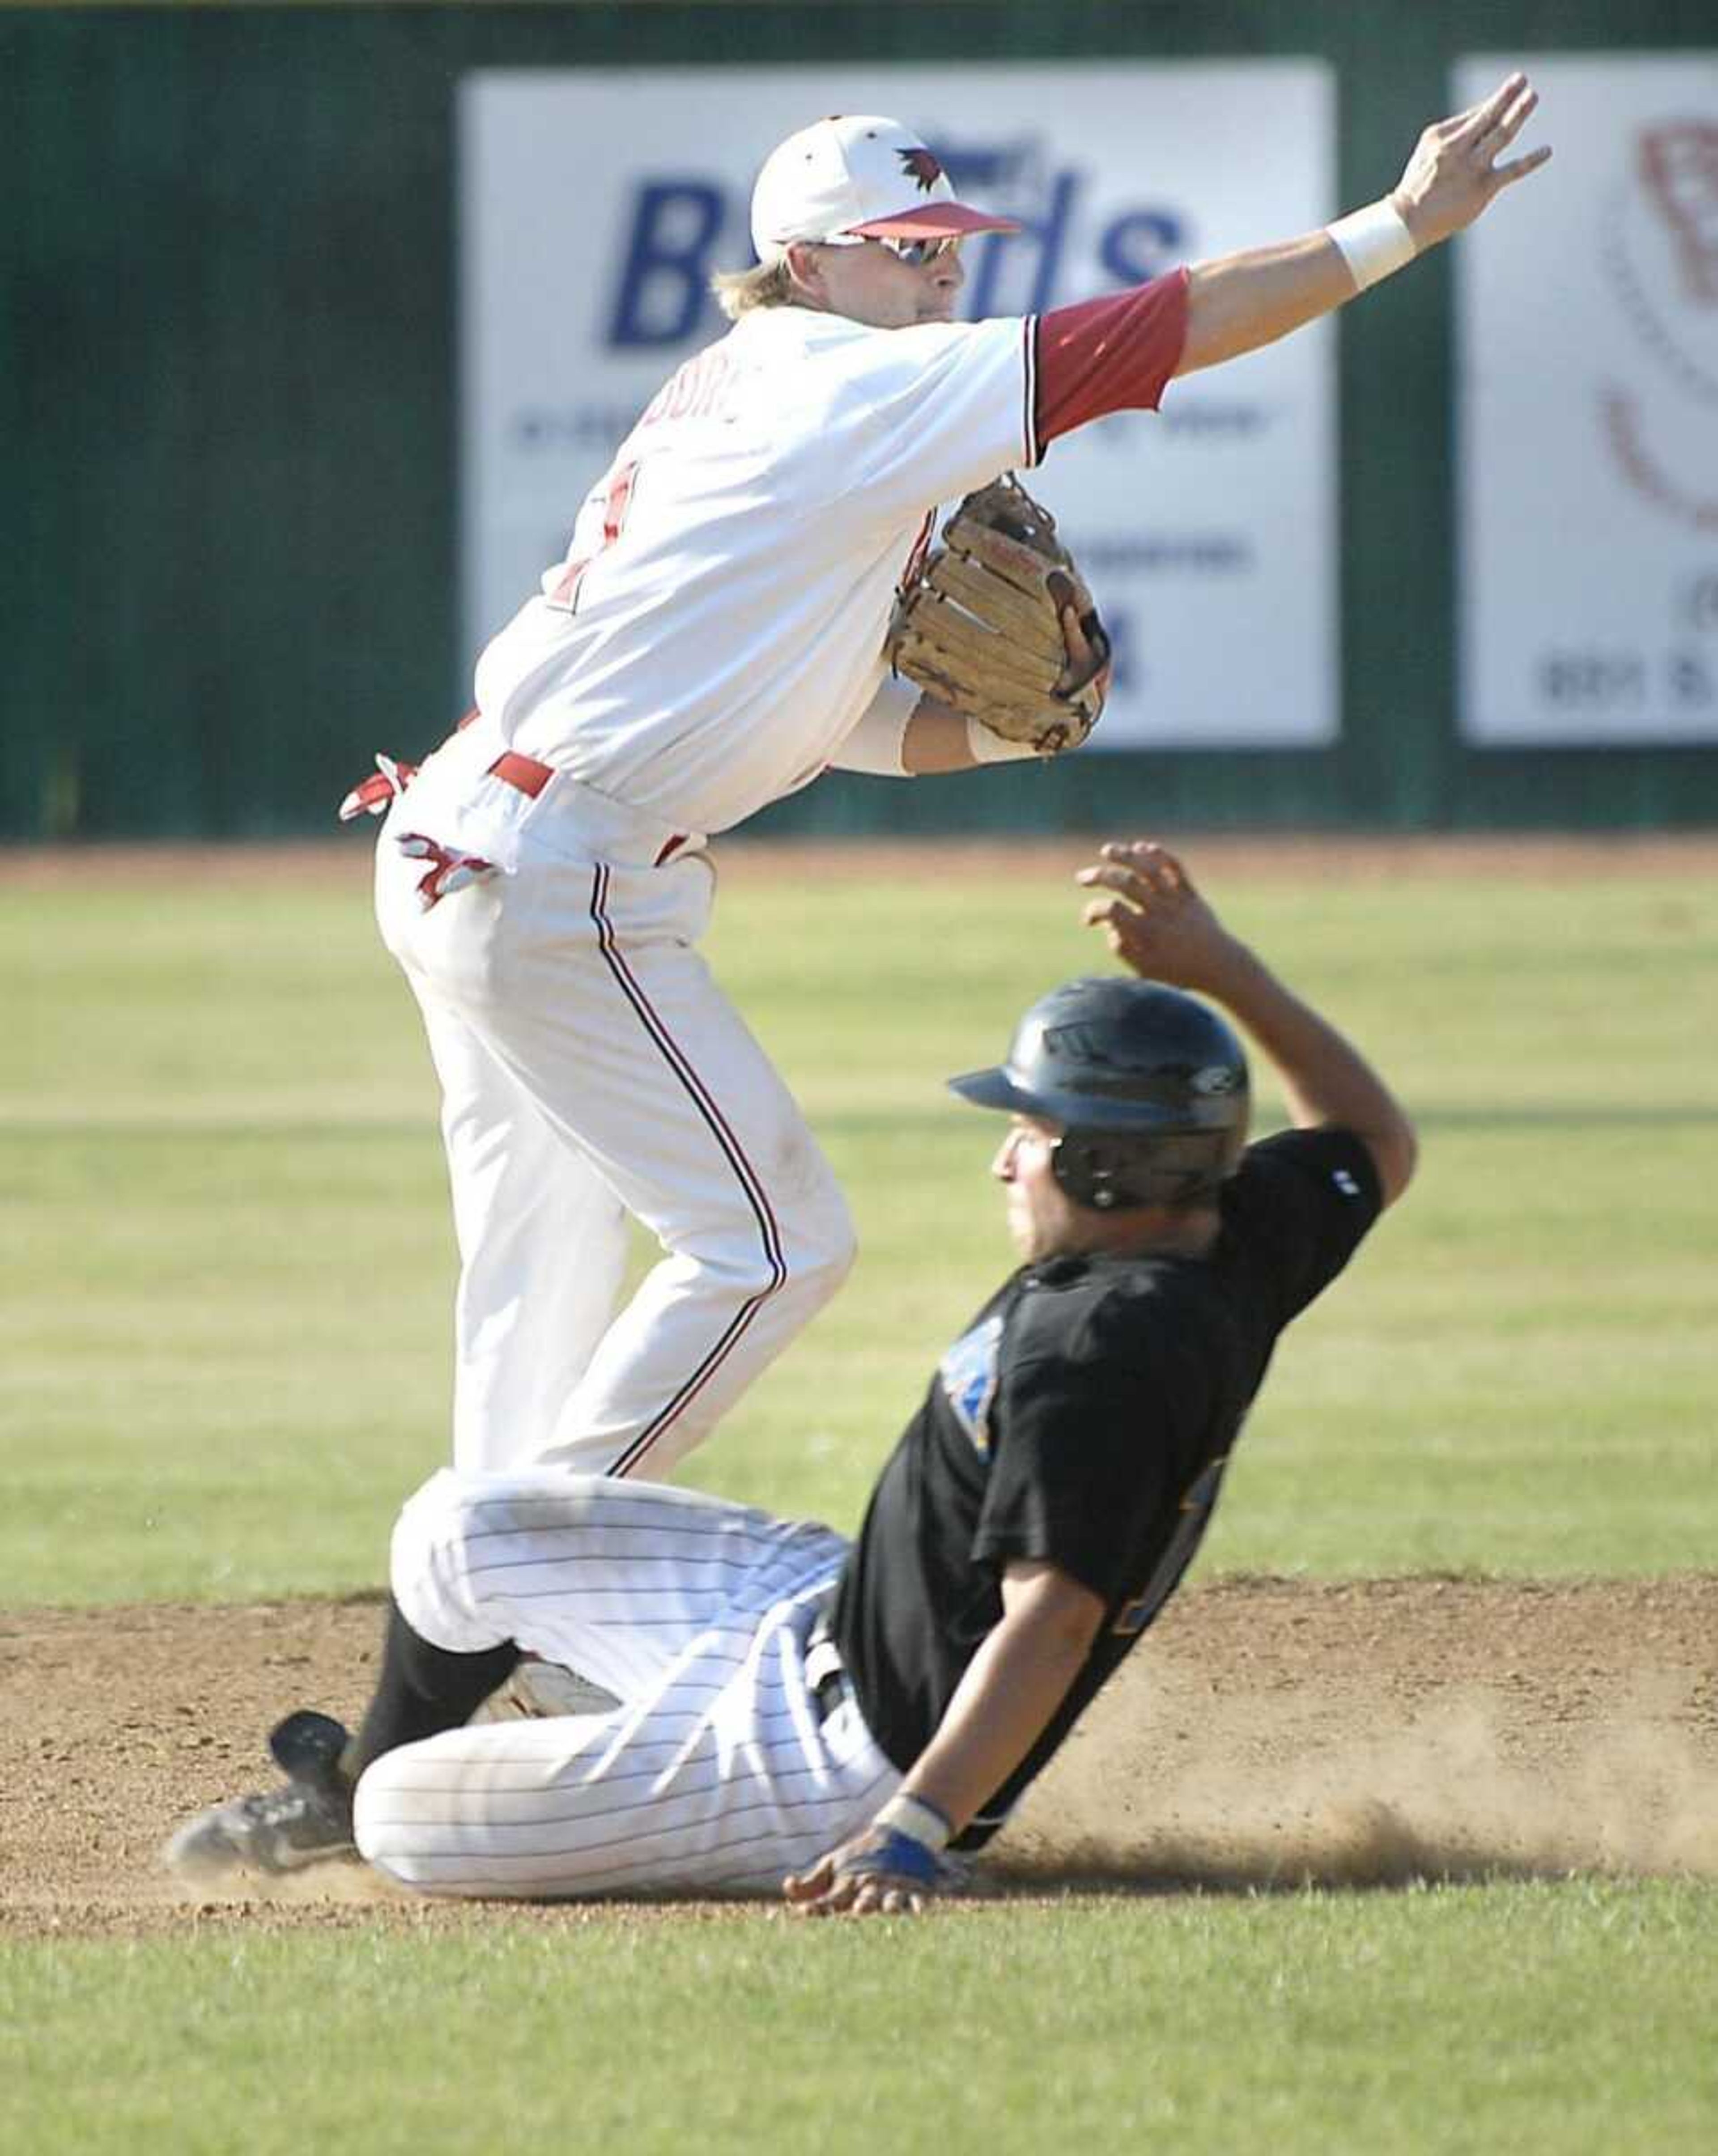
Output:
M1280 1130L1248 1145L1222 1225L1274 1330L1336 1279L1382 1203L1373 1158L1352 1130Z

